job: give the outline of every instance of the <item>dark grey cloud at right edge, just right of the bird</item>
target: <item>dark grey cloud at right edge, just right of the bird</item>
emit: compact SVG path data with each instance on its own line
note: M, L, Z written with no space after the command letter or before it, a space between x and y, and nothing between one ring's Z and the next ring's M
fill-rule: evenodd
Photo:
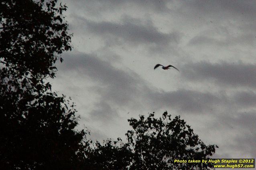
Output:
M213 80L219 86L256 87L256 64L203 61L186 64L183 70L183 76L193 82Z

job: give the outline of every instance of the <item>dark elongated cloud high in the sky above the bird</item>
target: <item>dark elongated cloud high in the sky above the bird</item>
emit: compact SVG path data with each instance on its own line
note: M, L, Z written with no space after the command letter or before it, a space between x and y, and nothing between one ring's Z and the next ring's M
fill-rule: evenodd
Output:
M93 22L85 20L86 28L96 35L104 35L104 39L109 36L114 36L122 39L124 42L130 41L139 44L158 44L168 45L169 42L178 43L180 35L178 32L165 34L159 32L151 22L143 25L141 23L133 22L133 20L126 18L122 23L114 22Z

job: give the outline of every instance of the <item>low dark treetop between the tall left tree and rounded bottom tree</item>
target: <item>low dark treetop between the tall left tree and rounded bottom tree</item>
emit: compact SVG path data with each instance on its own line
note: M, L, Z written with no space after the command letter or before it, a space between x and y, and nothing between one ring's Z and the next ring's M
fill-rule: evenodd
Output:
M120 138L104 143L87 141L79 153L83 170L126 170L132 161L132 151L128 143Z

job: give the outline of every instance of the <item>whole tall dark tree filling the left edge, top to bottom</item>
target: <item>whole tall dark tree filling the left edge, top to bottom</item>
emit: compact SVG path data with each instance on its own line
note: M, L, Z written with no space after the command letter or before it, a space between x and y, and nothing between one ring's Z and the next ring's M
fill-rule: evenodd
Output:
M0 2L0 169L77 169L85 131L74 104L51 91L55 62L71 50L57 0Z

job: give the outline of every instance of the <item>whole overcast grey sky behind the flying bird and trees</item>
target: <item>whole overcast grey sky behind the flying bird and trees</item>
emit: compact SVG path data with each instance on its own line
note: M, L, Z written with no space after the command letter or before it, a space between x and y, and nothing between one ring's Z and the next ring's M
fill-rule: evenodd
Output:
M128 118L167 110L217 144L215 158L256 158L256 2L61 2L73 50L51 82L88 138L125 139Z

